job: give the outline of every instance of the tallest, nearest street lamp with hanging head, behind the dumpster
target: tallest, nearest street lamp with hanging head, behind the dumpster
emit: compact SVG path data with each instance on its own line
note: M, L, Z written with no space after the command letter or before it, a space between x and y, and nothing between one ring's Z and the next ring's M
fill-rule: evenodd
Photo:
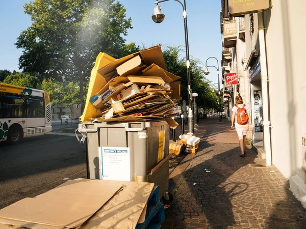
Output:
M170 0L156 1L154 4L154 12L152 14L152 20L156 23L161 23L165 19L165 14L162 13L162 8L158 5L159 3L167 2ZM193 113L192 113L192 89L191 89L191 79L190 79L190 61L189 61L189 41L188 41L188 26L187 26L187 12L186 12L186 0L184 0L184 5L179 0L174 0L181 4L183 7L183 17L184 17L184 29L185 29L185 47L186 47L186 66L187 66L187 83L188 83L188 129L189 132L193 132Z

